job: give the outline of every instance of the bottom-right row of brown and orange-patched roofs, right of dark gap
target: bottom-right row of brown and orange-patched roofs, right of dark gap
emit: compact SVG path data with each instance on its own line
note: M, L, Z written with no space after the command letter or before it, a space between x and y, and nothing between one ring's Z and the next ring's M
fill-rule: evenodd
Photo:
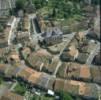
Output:
M96 84L85 83L74 80L63 80L56 79L54 84L54 91L65 91L72 95L78 95L83 97L84 99L97 100L98 99L98 89ZM96 92L94 92L96 91Z

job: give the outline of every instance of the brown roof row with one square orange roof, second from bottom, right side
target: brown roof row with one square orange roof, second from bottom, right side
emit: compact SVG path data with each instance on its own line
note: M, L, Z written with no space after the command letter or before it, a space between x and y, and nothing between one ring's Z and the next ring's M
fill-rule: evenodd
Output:
M57 77L101 84L101 68L73 62L62 63Z

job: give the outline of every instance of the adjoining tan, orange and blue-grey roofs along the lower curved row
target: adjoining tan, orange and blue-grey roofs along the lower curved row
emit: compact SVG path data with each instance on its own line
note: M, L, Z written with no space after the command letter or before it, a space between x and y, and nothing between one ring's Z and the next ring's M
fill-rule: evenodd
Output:
M53 89L53 83L55 80L46 73L40 73L28 67L19 71L16 74L16 77L20 77L32 86L37 86L42 89Z

